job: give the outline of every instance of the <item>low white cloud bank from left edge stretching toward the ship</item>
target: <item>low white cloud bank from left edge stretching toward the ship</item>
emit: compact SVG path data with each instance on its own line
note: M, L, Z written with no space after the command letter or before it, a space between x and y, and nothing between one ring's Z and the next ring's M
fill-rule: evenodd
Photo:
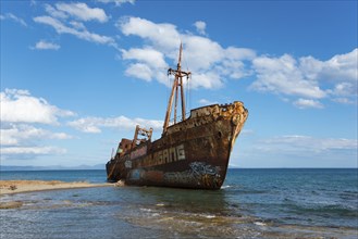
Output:
M67 150L57 147L58 140L74 139L59 129L74 128L81 133L101 133L104 129L133 131L136 125L160 131L162 121L119 117L79 117L69 110L50 104L47 100L32 96L28 90L5 89L0 92L1 156L9 159L34 159L38 155L63 154ZM70 127L69 127L70 126ZM47 129L51 128L51 129Z

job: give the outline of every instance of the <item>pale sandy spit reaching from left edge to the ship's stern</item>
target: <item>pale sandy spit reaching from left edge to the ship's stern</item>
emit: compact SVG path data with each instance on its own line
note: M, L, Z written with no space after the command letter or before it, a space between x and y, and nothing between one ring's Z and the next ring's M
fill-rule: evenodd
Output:
M22 192L47 191L58 189L109 187L113 184L91 184L87 181L60 180L0 180L0 197Z

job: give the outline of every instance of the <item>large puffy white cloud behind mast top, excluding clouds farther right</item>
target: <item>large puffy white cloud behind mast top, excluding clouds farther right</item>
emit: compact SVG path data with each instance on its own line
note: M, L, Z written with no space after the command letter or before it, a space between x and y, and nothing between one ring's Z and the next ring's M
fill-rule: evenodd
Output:
M193 73L190 83L193 88L219 88L223 86L227 77L238 79L251 74L244 63L256 56L256 52L251 49L235 47L224 49L207 37L181 34L173 24L156 24L139 17L124 17L118 22L116 26L125 36L138 36L146 41L140 50L138 48L122 50L122 59L135 62L128 65L126 73L137 78L151 80L158 75L158 72L162 72L163 75L157 77L157 80L168 86L162 67L176 64L181 39L184 48L182 68ZM151 54L148 49L156 54ZM128 56L128 52L131 52L131 56ZM148 55L144 56L145 53ZM164 63L168 59L173 63ZM156 62L156 67L153 62ZM137 70L144 72L138 73ZM149 71L155 74L150 74Z

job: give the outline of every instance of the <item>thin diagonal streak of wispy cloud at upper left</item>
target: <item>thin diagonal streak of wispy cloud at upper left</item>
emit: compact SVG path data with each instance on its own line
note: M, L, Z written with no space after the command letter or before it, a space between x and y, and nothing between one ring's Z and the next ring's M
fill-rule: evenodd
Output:
M57 18L51 16L36 16L34 17L36 23L46 24L52 26L58 34L70 34L78 37L79 39L84 39L87 41L101 43L101 45L109 45L116 48L116 43L112 37L101 36L95 33L89 33L87 29L78 29L72 28L64 25Z

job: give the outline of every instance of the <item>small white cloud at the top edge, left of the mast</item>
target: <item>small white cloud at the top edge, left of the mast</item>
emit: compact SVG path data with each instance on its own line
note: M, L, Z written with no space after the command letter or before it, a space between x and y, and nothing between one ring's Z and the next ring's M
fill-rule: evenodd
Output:
M86 3L57 3L55 8L58 12L61 11L64 14L74 16L81 21L98 21L104 23L108 21L108 16L102 9L98 8L88 8Z

